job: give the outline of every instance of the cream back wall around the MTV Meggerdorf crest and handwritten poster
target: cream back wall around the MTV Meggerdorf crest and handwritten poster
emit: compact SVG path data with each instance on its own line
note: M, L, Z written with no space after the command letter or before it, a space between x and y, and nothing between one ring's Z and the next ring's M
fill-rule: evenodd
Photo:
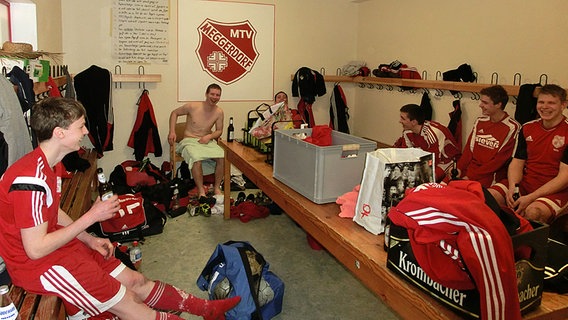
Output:
M43 0L45 1L45 0ZM183 1L183 0L179 0ZM275 4L275 90L287 91L291 98L290 76L299 67L315 70L331 68L355 58L357 50L357 5L345 0L276 0L240 1ZM162 82L146 84L154 105L164 155L152 161L160 165L168 159L167 134L171 110L180 106L177 101L177 1L170 1L170 63L168 65L145 65L147 74L159 73ZM78 73L90 65L114 71L117 64L111 58L111 0L61 0L64 63L72 73ZM88 13L88 14L86 14ZM337 22L349 23L337 23ZM137 65L122 65L122 73L137 73ZM208 85L203 84L203 91ZM331 91L331 84L329 84ZM114 151L105 152L99 164L110 172L123 160L133 159L133 149L126 146L136 117L136 101L141 90L137 83L123 83L122 89L113 89L115 112ZM258 102L222 102L225 117L235 118L235 129L240 134L247 112ZM297 104L291 99L291 104ZM318 123L327 123L329 96L318 98L315 118ZM321 119L321 120L320 120ZM237 135L239 137L239 135Z

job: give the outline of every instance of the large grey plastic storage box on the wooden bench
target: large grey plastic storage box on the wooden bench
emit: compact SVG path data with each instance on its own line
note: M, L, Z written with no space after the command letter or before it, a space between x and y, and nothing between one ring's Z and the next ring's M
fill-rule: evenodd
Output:
M331 146L320 147L294 137L300 133L310 136L312 129L274 131L274 178L318 204L335 202L361 183L376 142L332 131Z

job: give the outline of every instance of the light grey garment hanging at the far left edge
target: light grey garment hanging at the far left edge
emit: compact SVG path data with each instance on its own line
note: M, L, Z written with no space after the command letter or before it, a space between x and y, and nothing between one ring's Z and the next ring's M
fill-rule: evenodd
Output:
M14 86L0 77L0 131L8 144L8 166L31 152L32 142Z

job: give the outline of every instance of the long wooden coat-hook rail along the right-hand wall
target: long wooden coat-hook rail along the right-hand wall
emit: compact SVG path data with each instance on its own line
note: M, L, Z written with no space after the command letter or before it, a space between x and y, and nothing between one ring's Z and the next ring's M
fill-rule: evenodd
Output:
M294 79L294 75L292 78ZM378 78L378 77L348 77L348 76L324 76L326 82L352 82L363 84L384 84L397 87L410 88L426 88L439 90L452 90L460 92L477 92L481 89L491 86L491 84L475 83L475 82L454 82L440 80L419 80L419 79L402 79L402 78ZM501 85L510 96L519 94L519 86Z

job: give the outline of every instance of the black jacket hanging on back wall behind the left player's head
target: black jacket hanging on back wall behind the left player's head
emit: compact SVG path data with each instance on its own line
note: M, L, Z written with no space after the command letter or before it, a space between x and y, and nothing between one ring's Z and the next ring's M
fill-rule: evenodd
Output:
M114 114L111 103L111 73L92 65L74 79L75 92L87 111L89 139L99 157L113 149Z

